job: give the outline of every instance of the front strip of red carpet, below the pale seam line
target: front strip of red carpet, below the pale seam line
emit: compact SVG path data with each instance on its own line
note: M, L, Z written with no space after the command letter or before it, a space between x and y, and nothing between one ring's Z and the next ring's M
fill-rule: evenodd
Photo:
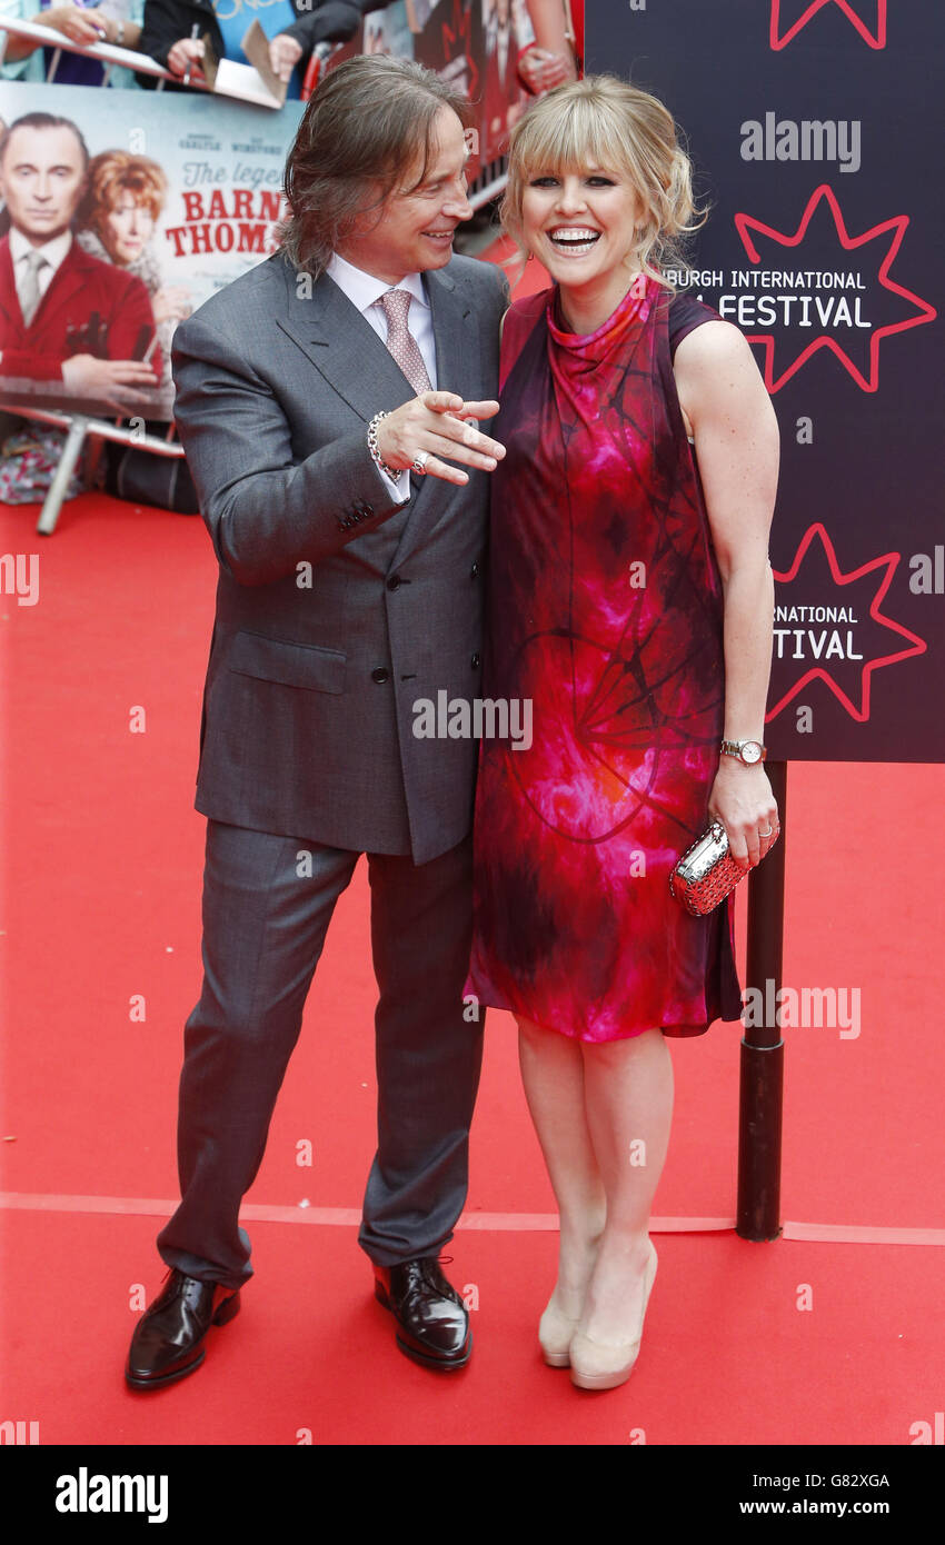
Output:
M307 1429L317 1445L625 1446L642 1429L658 1446L902 1446L942 1409L942 1251L658 1236L639 1363L594 1395L533 1347L553 1234L457 1234L448 1270L479 1292L476 1350L440 1377L394 1349L352 1228L250 1227L241 1313L193 1378L142 1395L120 1370L130 1293L159 1279L153 1219L6 1214L5 1412L39 1420L43 1445L295 1445Z

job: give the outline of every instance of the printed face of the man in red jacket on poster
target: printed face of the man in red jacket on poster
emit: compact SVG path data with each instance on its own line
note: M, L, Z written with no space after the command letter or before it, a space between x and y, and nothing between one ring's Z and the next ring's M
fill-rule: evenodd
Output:
M71 128L14 128L0 188L14 227L34 247L68 230L83 182L82 148Z

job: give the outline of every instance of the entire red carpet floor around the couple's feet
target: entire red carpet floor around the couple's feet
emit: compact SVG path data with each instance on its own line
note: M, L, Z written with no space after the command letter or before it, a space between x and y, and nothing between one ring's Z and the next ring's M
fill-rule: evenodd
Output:
M788 1222L769 1245L724 1231L738 1026L673 1044L661 1268L628 1386L582 1395L536 1355L553 1200L500 1014L469 1210L449 1247L454 1281L479 1301L476 1357L439 1380L397 1353L352 1227L374 1148L358 871L249 1199L256 1279L242 1313L213 1332L196 1378L153 1397L125 1389L134 1307L164 1270L153 1236L176 1196L182 1024L199 990L191 796L215 562L198 519L90 494L43 539L37 513L0 507L0 552L40 559L36 606L0 596L0 1420L39 1421L42 1443L293 1445L300 1431L352 1445L913 1441L909 1428L942 1407L936 766L789 769L784 981L859 989L860 1034L786 1032ZM303 1139L310 1166L296 1162ZM664 1231L698 1219L723 1231ZM792 1238L806 1225L934 1233Z

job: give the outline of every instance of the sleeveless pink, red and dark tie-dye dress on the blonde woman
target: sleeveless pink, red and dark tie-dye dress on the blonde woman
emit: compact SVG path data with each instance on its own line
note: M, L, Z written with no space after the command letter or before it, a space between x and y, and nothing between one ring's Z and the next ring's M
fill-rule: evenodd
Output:
M715 315L649 280L590 337L554 289L505 324L482 691L510 731L482 742L466 992L585 1041L740 1017L732 899L692 918L669 890L723 734L723 590L672 369Z

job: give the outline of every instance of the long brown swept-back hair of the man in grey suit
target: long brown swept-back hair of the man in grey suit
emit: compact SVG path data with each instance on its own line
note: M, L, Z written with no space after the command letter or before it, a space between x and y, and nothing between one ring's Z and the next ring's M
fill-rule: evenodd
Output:
M366 216L380 219L391 193L423 181L443 107L468 122L466 97L408 59L361 54L329 70L286 162L290 215L278 238L296 269L318 278Z

